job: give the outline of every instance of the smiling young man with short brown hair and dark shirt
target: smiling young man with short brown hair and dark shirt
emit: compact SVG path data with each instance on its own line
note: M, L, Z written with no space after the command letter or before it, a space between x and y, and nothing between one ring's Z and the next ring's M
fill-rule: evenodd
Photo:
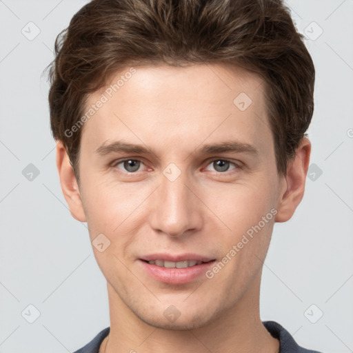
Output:
M283 3L94 0L56 54L61 188L110 305L77 353L314 352L259 315L311 149L314 65Z

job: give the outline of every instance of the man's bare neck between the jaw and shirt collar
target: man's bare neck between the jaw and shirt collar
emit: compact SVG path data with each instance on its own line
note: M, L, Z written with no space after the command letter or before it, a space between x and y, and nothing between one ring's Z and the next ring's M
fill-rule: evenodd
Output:
M259 316L261 273L233 307L203 327L167 330L141 321L108 283L110 334L99 353L278 353L274 339Z

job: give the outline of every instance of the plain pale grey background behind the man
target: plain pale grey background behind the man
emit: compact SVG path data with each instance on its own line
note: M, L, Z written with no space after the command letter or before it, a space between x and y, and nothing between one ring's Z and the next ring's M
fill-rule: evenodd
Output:
M1 353L73 352L109 325L88 230L61 193L41 77L55 37L85 2L0 1ZM304 347L353 352L353 0L287 3L316 66L313 165L296 214L275 225L261 318ZM40 312L34 323L30 304Z

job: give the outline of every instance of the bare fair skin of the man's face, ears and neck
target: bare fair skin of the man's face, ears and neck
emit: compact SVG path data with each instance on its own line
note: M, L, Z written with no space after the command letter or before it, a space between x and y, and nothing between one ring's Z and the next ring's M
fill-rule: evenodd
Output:
M136 69L83 126L80 185L57 145L72 216L88 223L91 241L101 233L110 240L103 252L93 247L110 304L110 335L100 352L279 352L259 315L261 272L274 222L288 221L303 197L310 141L301 141L287 174L279 175L263 81L255 74L224 64ZM233 103L241 92L252 99L243 112ZM95 152L117 140L154 154ZM230 140L258 153L201 154L205 144ZM126 158L141 161L137 172L120 163ZM219 160L230 161L229 169ZM163 175L170 163L181 171L175 181ZM170 285L141 268L138 259L156 252L221 261L272 208L273 219L212 279ZM163 315L170 305L180 312L174 322Z

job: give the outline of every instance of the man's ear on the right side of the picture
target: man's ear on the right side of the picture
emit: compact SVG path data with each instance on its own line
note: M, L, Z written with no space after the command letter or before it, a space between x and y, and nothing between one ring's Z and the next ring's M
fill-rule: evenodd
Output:
M301 139L295 156L288 163L283 190L277 207L276 222L286 222L292 218L294 211L303 199L307 168L309 167L311 143Z

